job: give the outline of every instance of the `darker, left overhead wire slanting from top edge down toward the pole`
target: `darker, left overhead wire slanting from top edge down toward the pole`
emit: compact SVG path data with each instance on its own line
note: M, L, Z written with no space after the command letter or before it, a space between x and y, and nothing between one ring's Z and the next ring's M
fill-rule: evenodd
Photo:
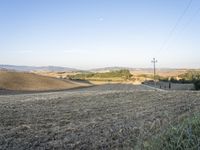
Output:
M163 44L160 47L160 51L162 51L165 46L167 45L167 43L169 42L170 38L173 36L174 32L176 31L179 23L181 22L181 20L183 19L183 17L185 16L185 14L187 13L188 9L190 8L191 4L192 4L193 0L190 0L187 4L187 6L185 7L185 9L183 10L182 14L180 15L180 17L178 18L178 20L176 21L175 25L173 26L173 28L170 30L169 35L167 36L167 38L164 40Z

